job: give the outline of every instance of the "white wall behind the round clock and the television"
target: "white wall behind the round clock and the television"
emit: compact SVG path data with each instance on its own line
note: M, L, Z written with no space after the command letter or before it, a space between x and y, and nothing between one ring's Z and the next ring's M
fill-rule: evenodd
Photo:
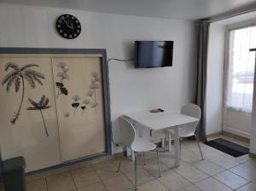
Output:
M55 32L60 14L79 18L79 38L67 40ZM109 63L114 139L119 137L117 118L121 114L163 106L179 110L192 101L195 24L191 21L0 4L0 26L1 47L99 48L107 49L108 58L133 57L135 40L174 40L173 67L134 69L131 62ZM3 157L15 156L7 156L8 149L3 145ZM38 161L42 166L39 163L44 159Z

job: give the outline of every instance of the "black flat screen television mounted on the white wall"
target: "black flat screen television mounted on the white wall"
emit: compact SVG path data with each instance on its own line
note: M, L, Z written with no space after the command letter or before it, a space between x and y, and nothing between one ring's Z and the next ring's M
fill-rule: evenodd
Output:
M135 41L135 67L172 67L173 41Z

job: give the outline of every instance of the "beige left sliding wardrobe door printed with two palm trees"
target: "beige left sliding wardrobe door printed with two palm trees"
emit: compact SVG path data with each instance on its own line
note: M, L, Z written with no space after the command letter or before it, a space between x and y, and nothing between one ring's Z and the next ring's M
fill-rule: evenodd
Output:
M9 73L13 72L13 67L5 71L6 64L15 63L19 68L27 64L36 64L38 67L27 67L26 70L33 70L44 74L44 78L38 78L33 82L24 78L24 99L20 108L19 118L15 125L10 123L13 113L20 107L22 97L22 82L20 81L20 90L15 91L15 84L6 90L6 84L0 85L0 140L4 149L5 156L22 155L26 159L26 171L36 171L48 166L60 164L61 157L59 152L58 126L55 110L55 91L51 65L51 55L35 54L3 54L0 55L0 82ZM25 72L25 70L24 70ZM26 72L26 74L28 74ZM32 78L32 76L30 76ZM21 78L20 78L21 80ZM35 84L35 88L31 85ZM40 110L27 110L27 107L33 107L28 98L39 102L45 95L49 98L48 109L42 110L44 119ZM45 97L45 100L46 100ZM44 101L45 103L45 101ZM46 136L44 123L49 136Z

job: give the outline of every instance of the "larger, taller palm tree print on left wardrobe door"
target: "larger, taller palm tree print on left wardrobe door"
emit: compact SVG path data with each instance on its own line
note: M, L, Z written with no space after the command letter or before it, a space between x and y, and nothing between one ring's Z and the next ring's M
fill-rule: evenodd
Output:
M32 89L36 88L36 83L43 85L41 80L44 79L44 74L33 70L32 67L39 66L37 64L27 64L23 67L19 67L14 62L8 62L5 66L5 71L8 73L3 78L2 84L6 85L6 91L9 92L9 89L13 84L15 85L16 93L20 90L20 85L22 89L20 106L17 112L14 113L14 117L10 119L11 124L15 124L16 120L19 119L20 116L20 109L24 101L25 81ZM9 72L9 69L12 69L12 71Z

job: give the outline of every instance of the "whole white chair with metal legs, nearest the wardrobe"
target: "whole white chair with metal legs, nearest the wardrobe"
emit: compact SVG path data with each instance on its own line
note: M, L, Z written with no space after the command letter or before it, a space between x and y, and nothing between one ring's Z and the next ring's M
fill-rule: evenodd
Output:
M123 147L130 148L131 151L134 152L135 189L137 190L137 153L143 152L143 155L144 155L144 152L156 150L159 177L161 177L160 160L159 160L158 150L154 143L148 142L148 140L138 137L133 124L131 124L131 122L129 120L125 119L125 117L123 117L123 116L119 117L119 127L120 127L120 133L121 133L121 137L122 137L121 143L122 143ZM122 154L119 157L118 171L120 169L121 162L122 162Z

